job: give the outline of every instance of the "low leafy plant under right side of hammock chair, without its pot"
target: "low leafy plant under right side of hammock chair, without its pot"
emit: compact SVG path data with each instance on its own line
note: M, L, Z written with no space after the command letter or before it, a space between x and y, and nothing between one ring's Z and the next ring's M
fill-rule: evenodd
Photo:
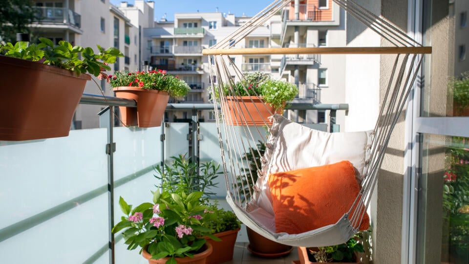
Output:
M340 245L307 248L308 254L311 254L316 262L354 262L355 252L364 252L360 243L362 232Z

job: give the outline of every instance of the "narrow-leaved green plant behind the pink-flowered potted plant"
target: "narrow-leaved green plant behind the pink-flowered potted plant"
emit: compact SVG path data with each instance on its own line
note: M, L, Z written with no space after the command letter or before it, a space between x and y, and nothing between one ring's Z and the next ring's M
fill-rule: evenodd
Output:
M203 192L204 203L207 204L208 198L215 194L212 189L218 184L214 180L222 174L220 165L213 160L197 164L186 158L185 154L172 156L171 159L171 163L155 167L158 175L154 176L161 180L161 184L156 186L172 193Z

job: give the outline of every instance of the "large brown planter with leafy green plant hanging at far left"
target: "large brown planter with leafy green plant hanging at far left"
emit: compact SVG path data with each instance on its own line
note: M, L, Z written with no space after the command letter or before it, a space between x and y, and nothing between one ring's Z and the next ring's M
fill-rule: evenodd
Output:
M99 53L61 41L40 38L39 44L0 44L0 140L67 136L86 81L102 76L108 63L123 54Z

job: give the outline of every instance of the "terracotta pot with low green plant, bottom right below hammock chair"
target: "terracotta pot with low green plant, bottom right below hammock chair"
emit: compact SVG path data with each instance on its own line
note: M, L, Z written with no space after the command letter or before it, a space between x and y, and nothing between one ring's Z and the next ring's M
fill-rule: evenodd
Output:
M298 247L299 263L362 263L358 260L356 255L359 252L364 252L363 245L360 243L363 238L362 232L357 233L346 243L340 245L320 247Z

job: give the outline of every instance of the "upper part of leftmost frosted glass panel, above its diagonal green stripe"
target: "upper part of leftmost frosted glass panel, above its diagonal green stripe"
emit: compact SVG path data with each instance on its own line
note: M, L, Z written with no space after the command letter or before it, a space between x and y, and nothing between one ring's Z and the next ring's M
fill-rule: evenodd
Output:
M0 229L107 184L106 129L0 142ZM12 200L13 199L13 200Z

